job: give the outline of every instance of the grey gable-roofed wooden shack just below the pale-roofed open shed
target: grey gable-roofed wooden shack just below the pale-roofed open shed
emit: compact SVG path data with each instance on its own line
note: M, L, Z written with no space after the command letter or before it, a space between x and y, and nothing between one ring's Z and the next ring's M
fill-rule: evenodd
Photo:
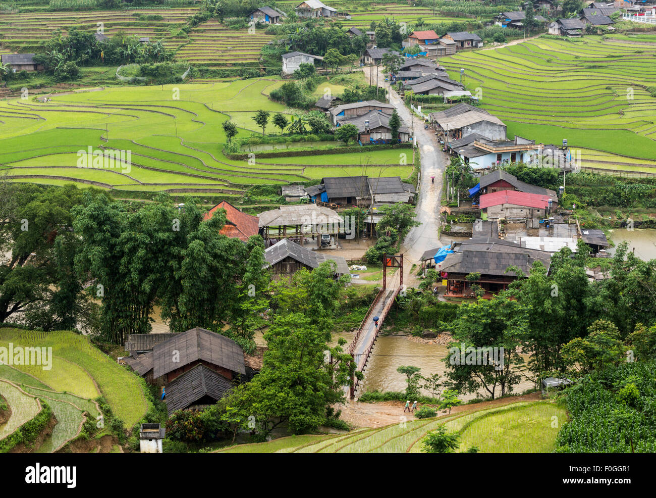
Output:
M287 238L283 238L264 251L267 266L273 270L274 276L293 275L298 270L306 268L313 270L325 261L335 263L335 276L340 277L349 273L346 260L341 256L330 256L321 252L311 251L299 246Z

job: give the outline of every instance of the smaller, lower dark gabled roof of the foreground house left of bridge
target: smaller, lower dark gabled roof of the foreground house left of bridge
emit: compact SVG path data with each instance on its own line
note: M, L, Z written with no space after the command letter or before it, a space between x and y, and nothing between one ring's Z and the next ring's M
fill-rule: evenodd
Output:
M232 389L232 382L205 365L196 365L190 371L174 378L165 386L167 411L184 410L205 396L218 401Z

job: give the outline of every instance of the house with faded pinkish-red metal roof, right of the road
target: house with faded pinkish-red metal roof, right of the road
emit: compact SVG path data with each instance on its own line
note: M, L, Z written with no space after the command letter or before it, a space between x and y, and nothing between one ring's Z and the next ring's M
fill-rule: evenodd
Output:
M497 191L480 196L479 205L489 219L508 221L543 219L549 207L549 196L517 191Z

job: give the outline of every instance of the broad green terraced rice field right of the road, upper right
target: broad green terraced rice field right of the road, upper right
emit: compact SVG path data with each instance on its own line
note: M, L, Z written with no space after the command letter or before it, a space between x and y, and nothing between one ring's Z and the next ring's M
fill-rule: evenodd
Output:
M582 150L582 166L651 168L656 160L656 35L584 36L575 42L538 37L499 49L441 59L483 92L483 108L508 136ZM584 153L583 153L584 150ZM603 164L603 163L602 163Z

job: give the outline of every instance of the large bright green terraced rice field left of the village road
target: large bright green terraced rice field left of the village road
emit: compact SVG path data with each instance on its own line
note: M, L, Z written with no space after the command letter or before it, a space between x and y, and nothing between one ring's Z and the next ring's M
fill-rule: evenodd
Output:
M265 94L279 83L276 78L258 78L175 87L112 87L55 94L47 103L0 101L0 164L11 181L73 182L121 191L185 191L226 198L241 196L248 185L307 181L337 171L340 176L360 175L363 169L370 175L382 171L406 178L411 174L409 149L255 156L250 161L224 156L222 122L234 120L241 125L239 135L251 135L260 131L250 119L256 110L287 112ZM272 124L267 131L274 131ZM78 151L89 147L125 150L130 156L126 153L123 161L108 164L111 168L79 167L84 165L78 163Z

